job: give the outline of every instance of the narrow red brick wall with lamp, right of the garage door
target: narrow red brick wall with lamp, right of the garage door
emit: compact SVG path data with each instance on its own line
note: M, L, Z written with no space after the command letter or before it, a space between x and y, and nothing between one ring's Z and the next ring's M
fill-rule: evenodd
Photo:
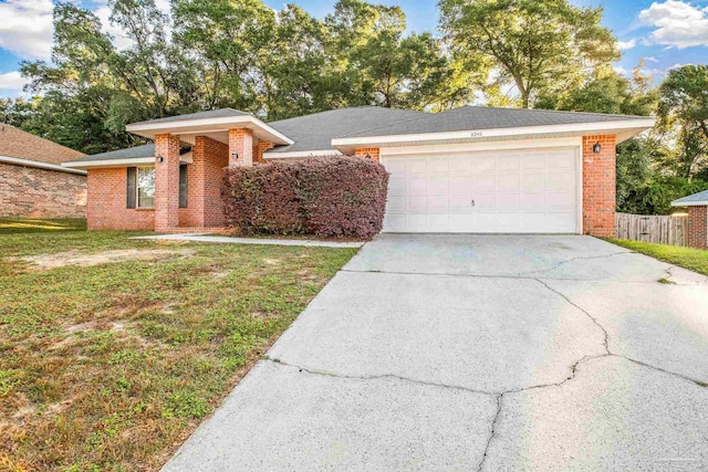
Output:
M593 146L600 143L600 154ZM616 139L614 135L583 137L583 233L615 235Z

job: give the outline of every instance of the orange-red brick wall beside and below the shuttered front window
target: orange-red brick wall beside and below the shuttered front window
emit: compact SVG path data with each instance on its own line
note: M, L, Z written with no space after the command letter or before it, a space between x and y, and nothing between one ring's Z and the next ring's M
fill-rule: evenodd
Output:
M127 169L93 169L88 171L90 230L153 230L155 210L126 208Z

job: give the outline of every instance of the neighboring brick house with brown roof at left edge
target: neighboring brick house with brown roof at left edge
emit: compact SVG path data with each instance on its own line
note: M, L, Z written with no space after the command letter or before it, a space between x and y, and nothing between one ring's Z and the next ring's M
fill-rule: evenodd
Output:
M82 156L0 123L0 217L84 218L86 171L61 166Z

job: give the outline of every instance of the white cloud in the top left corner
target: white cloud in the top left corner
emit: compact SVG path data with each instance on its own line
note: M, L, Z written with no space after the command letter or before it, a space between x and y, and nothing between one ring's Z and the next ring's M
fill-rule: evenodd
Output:
M22 59L50 59L52 0L0 2L0 48Z

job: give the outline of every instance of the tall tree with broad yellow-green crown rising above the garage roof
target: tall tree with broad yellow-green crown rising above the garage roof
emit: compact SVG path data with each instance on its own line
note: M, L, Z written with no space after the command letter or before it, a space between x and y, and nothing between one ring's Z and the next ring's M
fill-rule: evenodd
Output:
M601 8L568 0L440 1L440 29L454 54L491 70L492 90L513 84L524 108L538 94L576 86L589 71L620 59L601 18Z

